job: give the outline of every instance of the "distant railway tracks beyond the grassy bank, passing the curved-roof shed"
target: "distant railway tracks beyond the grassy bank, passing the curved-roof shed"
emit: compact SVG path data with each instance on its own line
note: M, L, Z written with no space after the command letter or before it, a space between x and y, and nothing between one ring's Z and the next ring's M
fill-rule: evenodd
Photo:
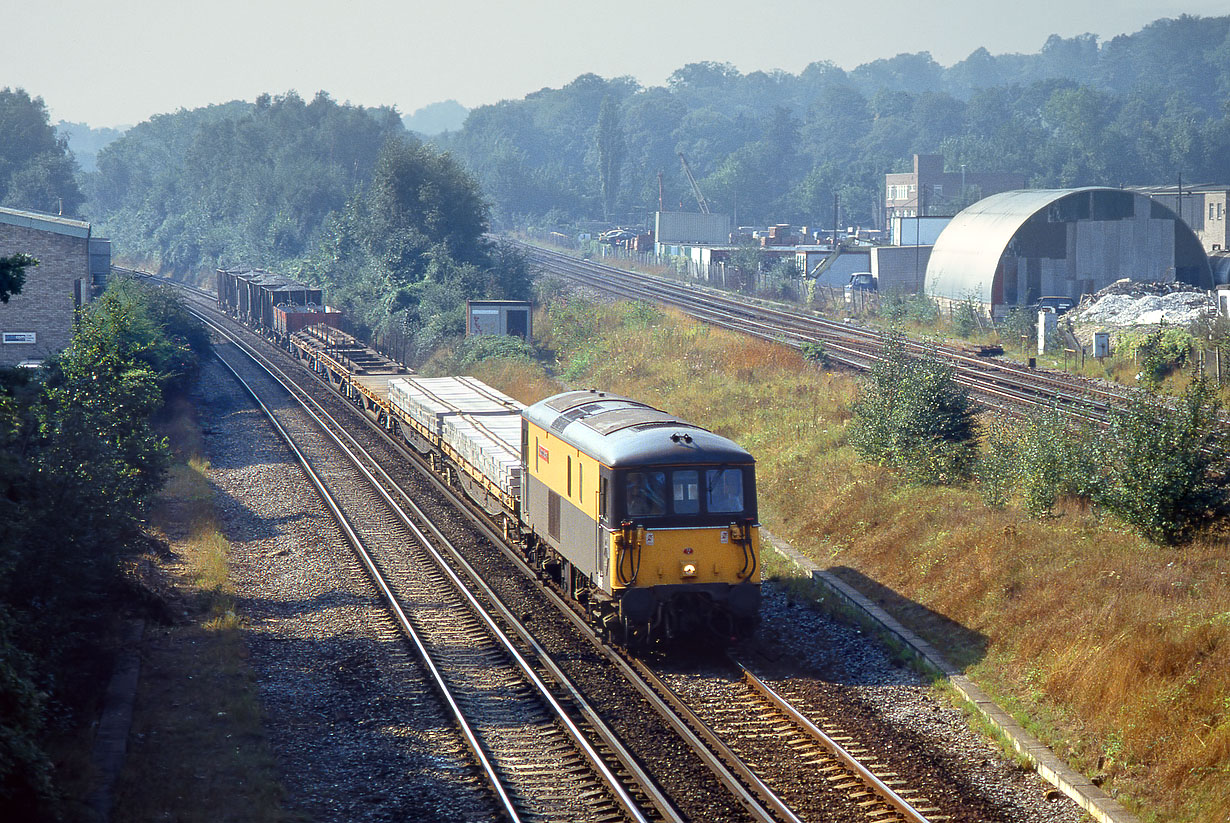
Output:
M519 244L544 271L587 288L626 299L668 305L705 322L772 340L793 348L823 343L833 360L865 370L879 359L879 331L815 315L753 305L747 299L694 284L582 261L571 255ZM934 352L951 364L957 380L983 405L1007 412L1055 406L1079 418L1102 422L1124 392L1069 375L1039 372L1009 360L979 357L954 346L904 341L908 351Z

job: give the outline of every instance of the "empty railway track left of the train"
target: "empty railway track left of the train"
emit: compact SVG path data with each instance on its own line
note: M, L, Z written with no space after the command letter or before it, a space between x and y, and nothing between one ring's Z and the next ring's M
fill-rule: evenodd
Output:
M253 352L219 357L346 533L507 817L681 819L524 627L483 603L481 586L475 593L474 581L462 579L467 570L455 550L408 498L390 493L379 467L344 442L337 422L314 412L310 400ZM285 391L280 399L277 389ZM287 402L292 399L295 405Z

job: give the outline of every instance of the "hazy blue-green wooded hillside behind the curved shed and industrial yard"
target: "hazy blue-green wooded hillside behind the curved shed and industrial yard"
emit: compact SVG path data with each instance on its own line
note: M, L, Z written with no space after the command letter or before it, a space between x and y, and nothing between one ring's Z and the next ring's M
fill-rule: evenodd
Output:
M664 86L585 74L474 109L437 138L477 175L497 221L640 221L696 210L683 153L715 210L739 223L882 221L884 175L914 154L1036 187L1230 181L1230 17L1159 20L1036 54L929 53L845 71L742 74L694 63ZM948 204L958 207L959 203Z

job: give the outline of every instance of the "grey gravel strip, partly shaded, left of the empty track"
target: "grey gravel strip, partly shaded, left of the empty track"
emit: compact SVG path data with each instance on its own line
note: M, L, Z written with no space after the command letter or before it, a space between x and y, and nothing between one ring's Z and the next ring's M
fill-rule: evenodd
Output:
M317 821L496 817L336 524L216 363L198 411L288 808Z

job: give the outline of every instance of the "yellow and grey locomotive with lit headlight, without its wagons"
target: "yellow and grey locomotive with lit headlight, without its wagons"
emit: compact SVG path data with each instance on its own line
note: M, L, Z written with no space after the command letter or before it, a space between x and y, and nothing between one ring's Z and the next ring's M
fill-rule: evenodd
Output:
M643 402L567 391L522 412L520 523L539 568L616 642L712 642L760 606L755 461Z

